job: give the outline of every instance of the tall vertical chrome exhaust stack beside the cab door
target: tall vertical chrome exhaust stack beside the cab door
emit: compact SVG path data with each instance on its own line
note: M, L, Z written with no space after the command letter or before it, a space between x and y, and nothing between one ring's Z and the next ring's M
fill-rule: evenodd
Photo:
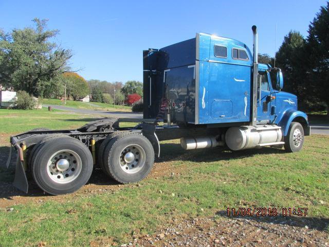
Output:
M253 33L253 66L252 66L252 111L250 125L257 125L257 82L258 82L258 34L257 27L252 26Z

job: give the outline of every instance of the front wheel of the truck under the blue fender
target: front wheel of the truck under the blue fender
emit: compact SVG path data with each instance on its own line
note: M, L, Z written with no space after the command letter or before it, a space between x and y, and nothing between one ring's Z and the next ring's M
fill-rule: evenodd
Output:
M304 144L304 130L299 122L291 122L288 135L285 138L284 149L288 152L298 152Z

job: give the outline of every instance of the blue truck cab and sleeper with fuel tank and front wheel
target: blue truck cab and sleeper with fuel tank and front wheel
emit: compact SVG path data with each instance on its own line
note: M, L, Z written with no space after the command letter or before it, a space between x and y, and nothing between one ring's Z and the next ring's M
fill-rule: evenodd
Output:
M258 63L257 28L252 30L253 52L241 41L202 32L144 50L144 118L220 130L232 150L295 142L286 149L299 151L310 132L307 115L298 111L297 96L281 91L280 68ZM264 136L253 145L236 141L253 133Z

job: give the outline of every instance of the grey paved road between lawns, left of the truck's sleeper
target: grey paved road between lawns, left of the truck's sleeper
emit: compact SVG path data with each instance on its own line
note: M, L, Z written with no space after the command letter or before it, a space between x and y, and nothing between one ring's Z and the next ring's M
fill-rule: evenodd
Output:
M107 117L117 117L117 118L143 118L142 113L135 113L135 112L109 112L109 111L102 111L102 110L88 110L88 109L79 109L79 108L72 108L72 107L63 107L62 105L57 104L43 104L43 107L52 107L53 109L59 109L64 111L76 112L81 114L91 114L91 115L102 115Z

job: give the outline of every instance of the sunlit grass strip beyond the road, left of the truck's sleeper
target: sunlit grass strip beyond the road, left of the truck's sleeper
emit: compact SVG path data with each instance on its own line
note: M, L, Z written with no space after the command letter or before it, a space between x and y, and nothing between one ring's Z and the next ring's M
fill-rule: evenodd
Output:
M64 105L64 102L60 99L43 99L43 104L57 104ZM95 106L97 105L97 106ZM131 112L132 108L125 105L114 105L114 104L105 104L99 102L82 102L74 100L66 100L66 107L74 107L80 109L91 109L91 110L104 110L104 111L125 111Z

